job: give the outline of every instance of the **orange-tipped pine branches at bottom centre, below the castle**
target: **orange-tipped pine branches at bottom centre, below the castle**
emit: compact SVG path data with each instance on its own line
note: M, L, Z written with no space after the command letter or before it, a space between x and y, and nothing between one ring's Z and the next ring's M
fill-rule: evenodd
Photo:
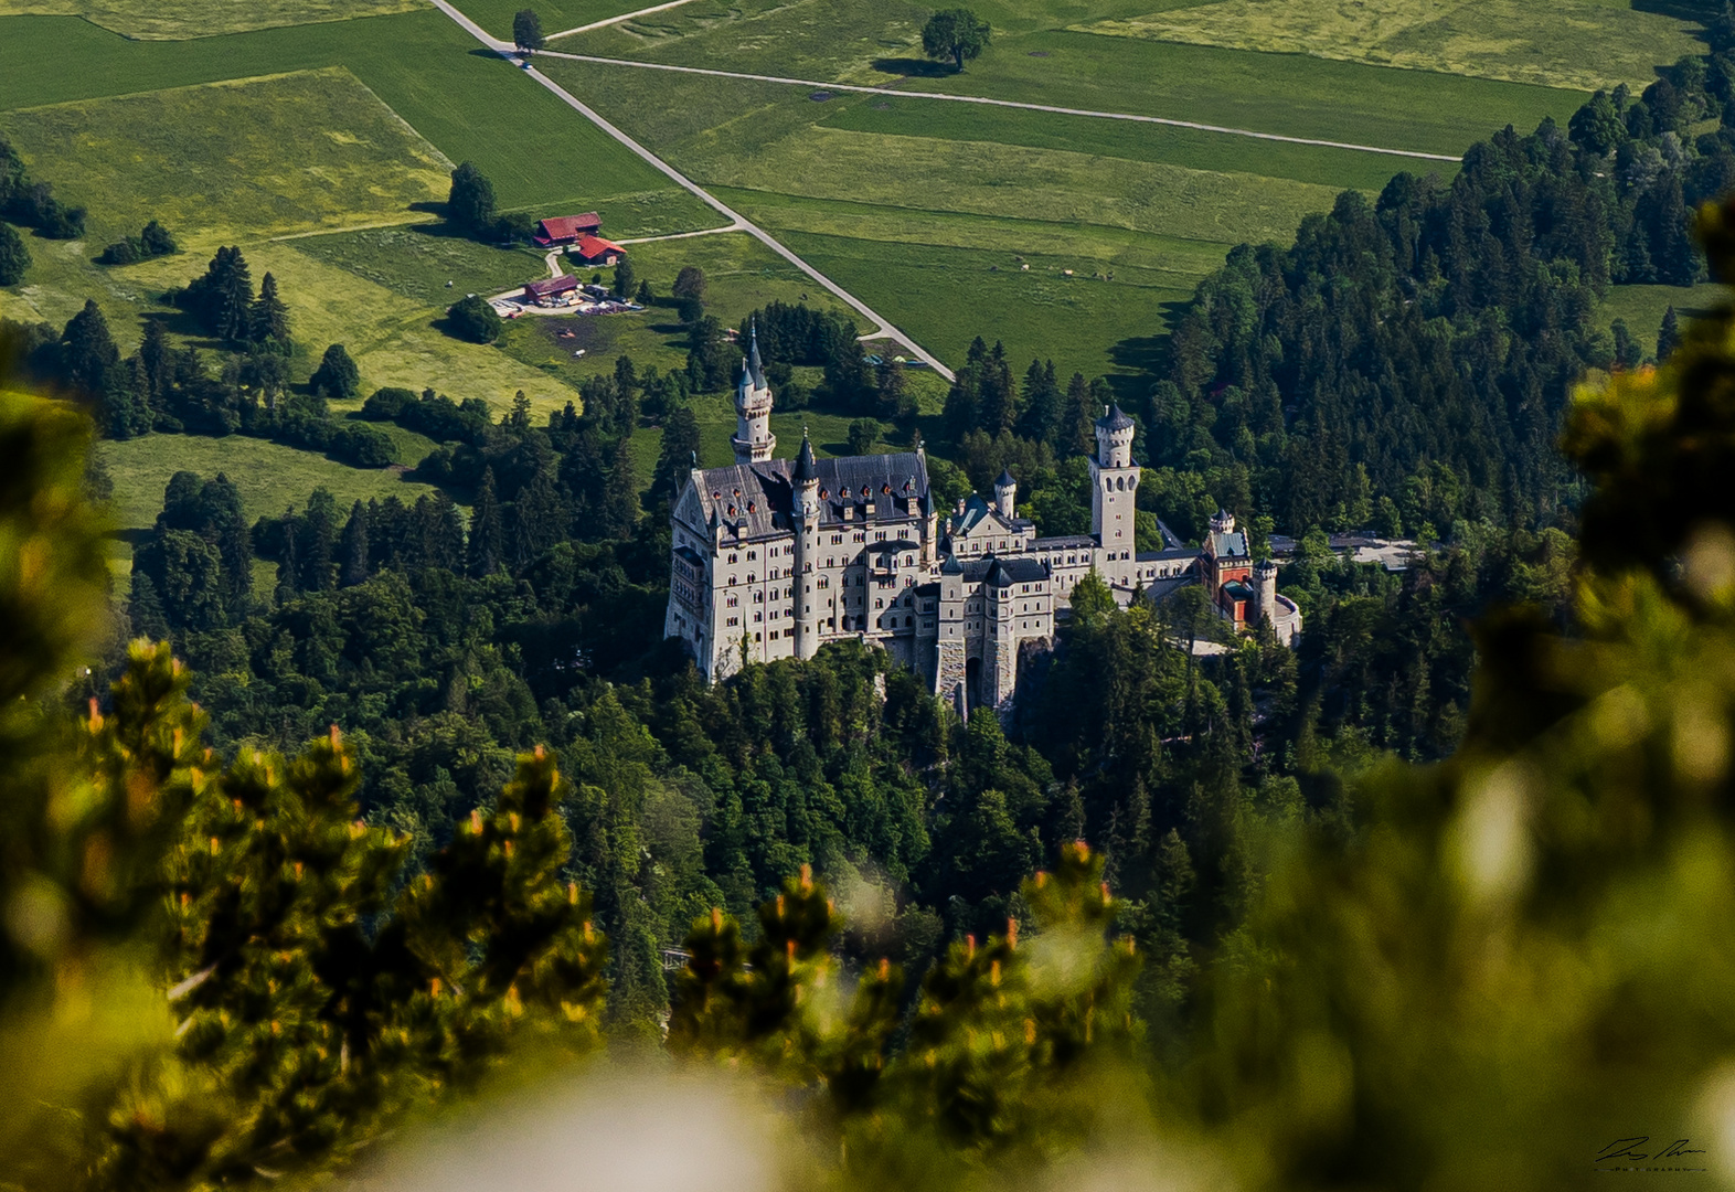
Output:
M1050 1145L1081 1130L1079 1074L1103 1055L1128 1058L1142 1034L1140 961L1129 935L1109 939L1121 904L1102 874L1102 854L1062 847L1053 873L1024 883L1036 930L1020 939L1008 920L1003 935L953 944L894 1048L904 975L881 959L850 975L845 998L828 947L841 916L803 868L760 906L751 949L722 911L694 923L670 1048L824 1088L850 1178L897 1183L930 1150L1005 1157Z

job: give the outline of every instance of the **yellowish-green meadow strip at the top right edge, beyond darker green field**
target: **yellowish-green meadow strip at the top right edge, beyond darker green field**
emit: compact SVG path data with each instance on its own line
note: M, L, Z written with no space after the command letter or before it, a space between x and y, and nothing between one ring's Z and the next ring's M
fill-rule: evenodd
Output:
M1638 90L1702 52L1686 24L1615 0L1216 0L1074 28L1577 90Z

